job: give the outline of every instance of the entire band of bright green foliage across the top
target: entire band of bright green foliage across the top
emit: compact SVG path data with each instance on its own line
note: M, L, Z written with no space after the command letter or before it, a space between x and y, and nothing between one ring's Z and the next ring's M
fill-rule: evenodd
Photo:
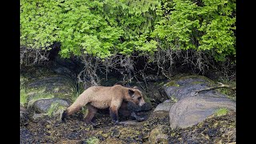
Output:
M60 54L154 54L158 47L235 56L234 0L22 0L21 46ZM168 46L162 46L168 43Z

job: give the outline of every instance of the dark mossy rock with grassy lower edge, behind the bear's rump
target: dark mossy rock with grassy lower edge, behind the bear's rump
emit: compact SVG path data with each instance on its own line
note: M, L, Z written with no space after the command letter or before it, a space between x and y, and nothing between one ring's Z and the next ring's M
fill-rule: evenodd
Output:
M27 67L20 74L22 88L26 90L28 101L38 95L53 95L53 98L73 100L76 93L76 79L66 74L58 74L46 66Z

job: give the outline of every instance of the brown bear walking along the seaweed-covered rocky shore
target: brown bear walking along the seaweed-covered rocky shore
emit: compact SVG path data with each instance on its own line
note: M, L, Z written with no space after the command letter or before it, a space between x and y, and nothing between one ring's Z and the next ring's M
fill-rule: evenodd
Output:
M142 92L137 88L128 88L121 85L91 86L66 109L63 117L74 114L83 106L87 106L86 123L91 123L98 109L110 108L112 120L118 123L118 110L122 106L122 102L134 102L138 106L145 104Z

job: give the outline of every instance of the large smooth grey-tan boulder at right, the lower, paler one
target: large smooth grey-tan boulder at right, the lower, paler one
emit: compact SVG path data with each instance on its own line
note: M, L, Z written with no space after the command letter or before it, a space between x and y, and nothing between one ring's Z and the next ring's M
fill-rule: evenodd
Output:
M170 126L172 129L186 128L202 122L219 108L236 110L236 102L229 98L194 96L175 102L170 108Z

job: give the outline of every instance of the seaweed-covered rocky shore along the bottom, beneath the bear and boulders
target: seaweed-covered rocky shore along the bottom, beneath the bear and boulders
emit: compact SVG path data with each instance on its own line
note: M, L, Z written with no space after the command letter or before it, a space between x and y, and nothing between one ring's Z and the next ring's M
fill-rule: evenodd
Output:
M97 114L96 126L85 126L82 114L74 114L66 122L42 119L29 122L20 127L21 143L150 143L150 131L165 125L165 134L169 136L162 143L229 143L236 141L235 113L207 118L206 121L186 129L170 129L168 112L159 111L150 114L144 122L127 122L114 126L108 114Z

